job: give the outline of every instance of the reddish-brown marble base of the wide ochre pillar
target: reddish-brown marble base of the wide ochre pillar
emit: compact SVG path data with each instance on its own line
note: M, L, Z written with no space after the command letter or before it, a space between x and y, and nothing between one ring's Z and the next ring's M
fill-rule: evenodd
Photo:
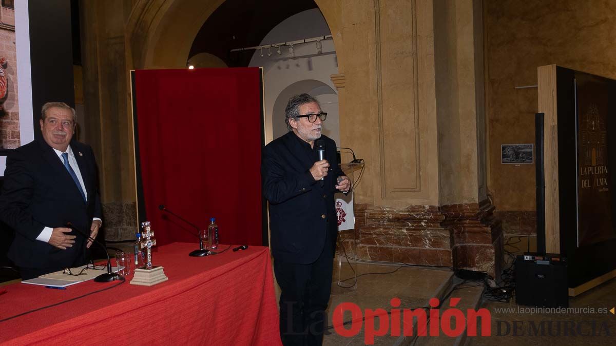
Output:
M496 277L503 262L503 230L494 206L482 203L410 206L355 204L355 229L339 233L357 258L479 270ZM341 252L341 249L338 249Z

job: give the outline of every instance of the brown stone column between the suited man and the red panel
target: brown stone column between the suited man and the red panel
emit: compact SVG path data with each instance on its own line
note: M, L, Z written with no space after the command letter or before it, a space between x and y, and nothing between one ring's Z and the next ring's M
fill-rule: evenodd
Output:
M103 230L108 240L137 231L132 116L124 27L131 1L82 0L81 42L86 138L99 164Z

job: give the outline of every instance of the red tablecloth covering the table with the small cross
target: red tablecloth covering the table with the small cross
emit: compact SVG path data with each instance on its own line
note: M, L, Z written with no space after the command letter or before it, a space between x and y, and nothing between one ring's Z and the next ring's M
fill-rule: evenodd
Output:
M280 345L267 247L188 257L197 247L153 248L153 264L169 281L152 287L129 284L132 274L116 287L118 281L65 290L6 286L0 320L109 289L0 322L0 344Z

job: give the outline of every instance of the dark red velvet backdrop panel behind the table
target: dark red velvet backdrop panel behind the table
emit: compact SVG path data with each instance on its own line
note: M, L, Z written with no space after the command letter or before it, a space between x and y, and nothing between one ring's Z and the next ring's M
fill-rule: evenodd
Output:
M158 244L198 241L159 204L200 228L216 217L222 244L262 243L260 76L259 68L135 71L145 215Z

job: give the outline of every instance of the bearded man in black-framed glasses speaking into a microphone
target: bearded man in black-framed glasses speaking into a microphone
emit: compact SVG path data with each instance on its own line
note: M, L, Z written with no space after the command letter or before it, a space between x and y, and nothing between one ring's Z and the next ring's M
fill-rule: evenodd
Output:
M317 100L291 97L285 113L290 132L265 146L261 163L274 273L282 289L280 337L285 345L320 345L338 236L334 193L347 193L351 181L338 167L336 142L321 134L327 113ZM317 140L325 146L320 161Z

